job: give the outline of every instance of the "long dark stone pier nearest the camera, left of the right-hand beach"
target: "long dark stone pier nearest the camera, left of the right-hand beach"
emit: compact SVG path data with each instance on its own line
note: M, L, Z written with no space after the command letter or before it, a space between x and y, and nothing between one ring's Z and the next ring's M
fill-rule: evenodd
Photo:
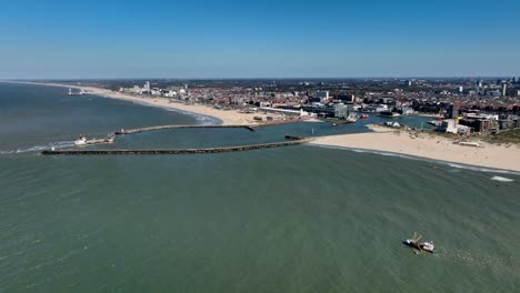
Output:
M249 144L238 146L224 146L224 148L209 148L209 149L159 149L159 150L47 150L42 151L44 155L107 155L107 154L197 154L197 153L222 153L222 152L243 152L259 149L272 149L299 145L308 143L311 139L298 138L298 137L286 137L291 139L290 141L261 143L261 144Z

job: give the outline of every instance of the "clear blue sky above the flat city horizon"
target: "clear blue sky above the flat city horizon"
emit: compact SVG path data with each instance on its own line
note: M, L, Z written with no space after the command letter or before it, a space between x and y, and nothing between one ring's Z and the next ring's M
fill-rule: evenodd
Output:
M520 0L0 0L0 79L520 74Z

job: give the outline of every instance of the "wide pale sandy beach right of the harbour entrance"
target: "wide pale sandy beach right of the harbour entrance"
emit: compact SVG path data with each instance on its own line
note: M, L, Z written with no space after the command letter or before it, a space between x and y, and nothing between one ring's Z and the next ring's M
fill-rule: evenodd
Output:
M448 161L468 165L520 172L520 145L496 145L479 142L483 148L454 144L452 140L428 133L411 135L384 127L370 125L374 132L317 138L312 144L373 150Z

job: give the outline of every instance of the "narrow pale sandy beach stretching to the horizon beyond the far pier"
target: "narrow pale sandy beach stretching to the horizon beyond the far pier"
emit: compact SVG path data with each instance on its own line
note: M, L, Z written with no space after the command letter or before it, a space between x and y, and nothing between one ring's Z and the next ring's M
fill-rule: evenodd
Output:
M173 110L184 114L202 115L211 118L222 124L222 125L262 125L267 124L266 122L257 121L253 117L261 117L263 121L268 114L263 113L239 113L237 111L223 111L211 108L204 104L184 104L182 102L170 102L166 98L141 98L136 95L130 95L121 92L116 92L107 89L96 88L96 87L83 87L76 84L63 84L54 82L29 82L29 81L0 81L4 83L18 83L18 84L33 84L33 85L47 85L47 87L59 87L68 89L83 90L88 94L100 95L109 99L117 99L122 101L130 101L134 103L140 103L148 107L157 107L166 110ZM81 97L79 97L81 99ZM299 121L298 121L299 122ZM274 122L277 123L277 122ZM279 123L279 122L278 122Z

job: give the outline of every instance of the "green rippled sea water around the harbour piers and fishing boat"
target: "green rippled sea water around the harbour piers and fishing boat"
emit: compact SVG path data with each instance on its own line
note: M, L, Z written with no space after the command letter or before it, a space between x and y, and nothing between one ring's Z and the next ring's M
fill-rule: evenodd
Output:
M101 135L123 125L216 122L66 92L0 84L0 292L520 289L517 173L311 145L42 156L41 148L68 146L78 125ZM367 131L361 123L158 131L118 137L113 148L359 131ZM414 231L437 253L402 245Z

